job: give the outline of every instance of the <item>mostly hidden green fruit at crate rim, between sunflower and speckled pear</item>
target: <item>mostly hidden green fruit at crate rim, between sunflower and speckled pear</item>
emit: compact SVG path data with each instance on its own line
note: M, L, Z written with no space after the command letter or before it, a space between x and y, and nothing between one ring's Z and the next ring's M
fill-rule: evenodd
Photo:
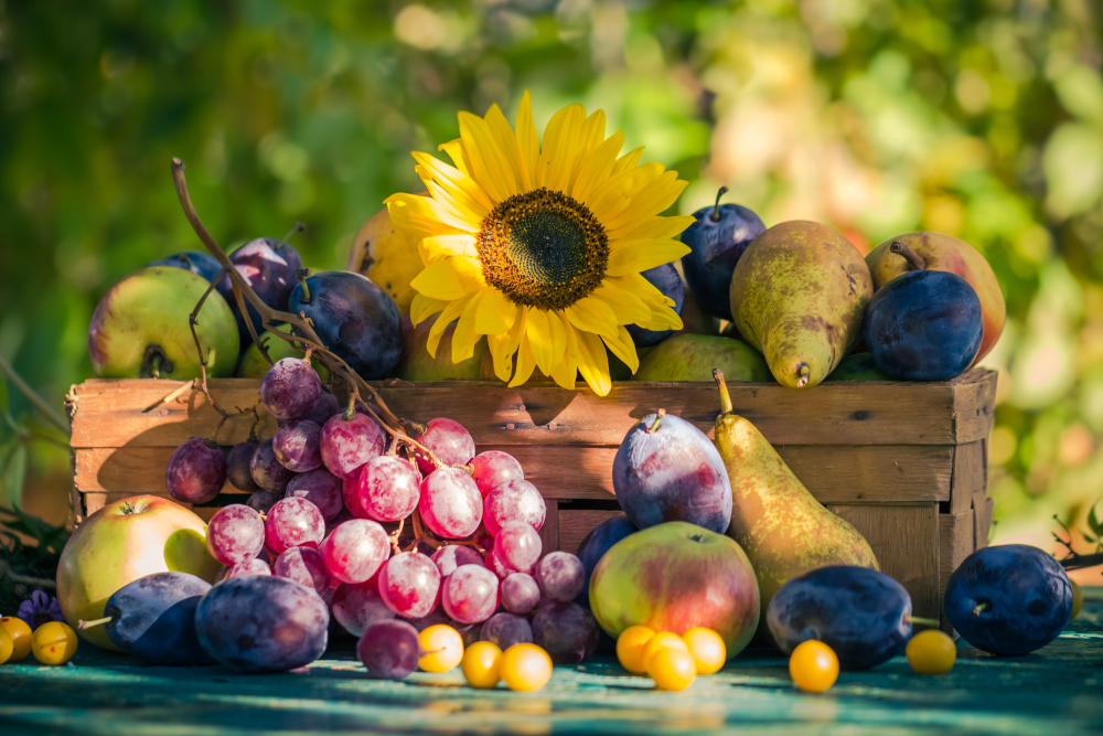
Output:
M732 381L773 383L765 360L741 340L710 334L675 334L640 360L633 381L711 381L720 366Z

